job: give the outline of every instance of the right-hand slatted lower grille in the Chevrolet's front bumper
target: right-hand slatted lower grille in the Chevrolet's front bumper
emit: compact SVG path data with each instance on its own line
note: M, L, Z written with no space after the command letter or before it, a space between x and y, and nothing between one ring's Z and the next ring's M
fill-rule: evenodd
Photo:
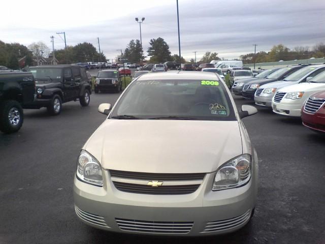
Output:
M203 232L221 231L240 226L249 220L250 212L251 211L249 209L245 212L245 214L232 219L208 222Z

